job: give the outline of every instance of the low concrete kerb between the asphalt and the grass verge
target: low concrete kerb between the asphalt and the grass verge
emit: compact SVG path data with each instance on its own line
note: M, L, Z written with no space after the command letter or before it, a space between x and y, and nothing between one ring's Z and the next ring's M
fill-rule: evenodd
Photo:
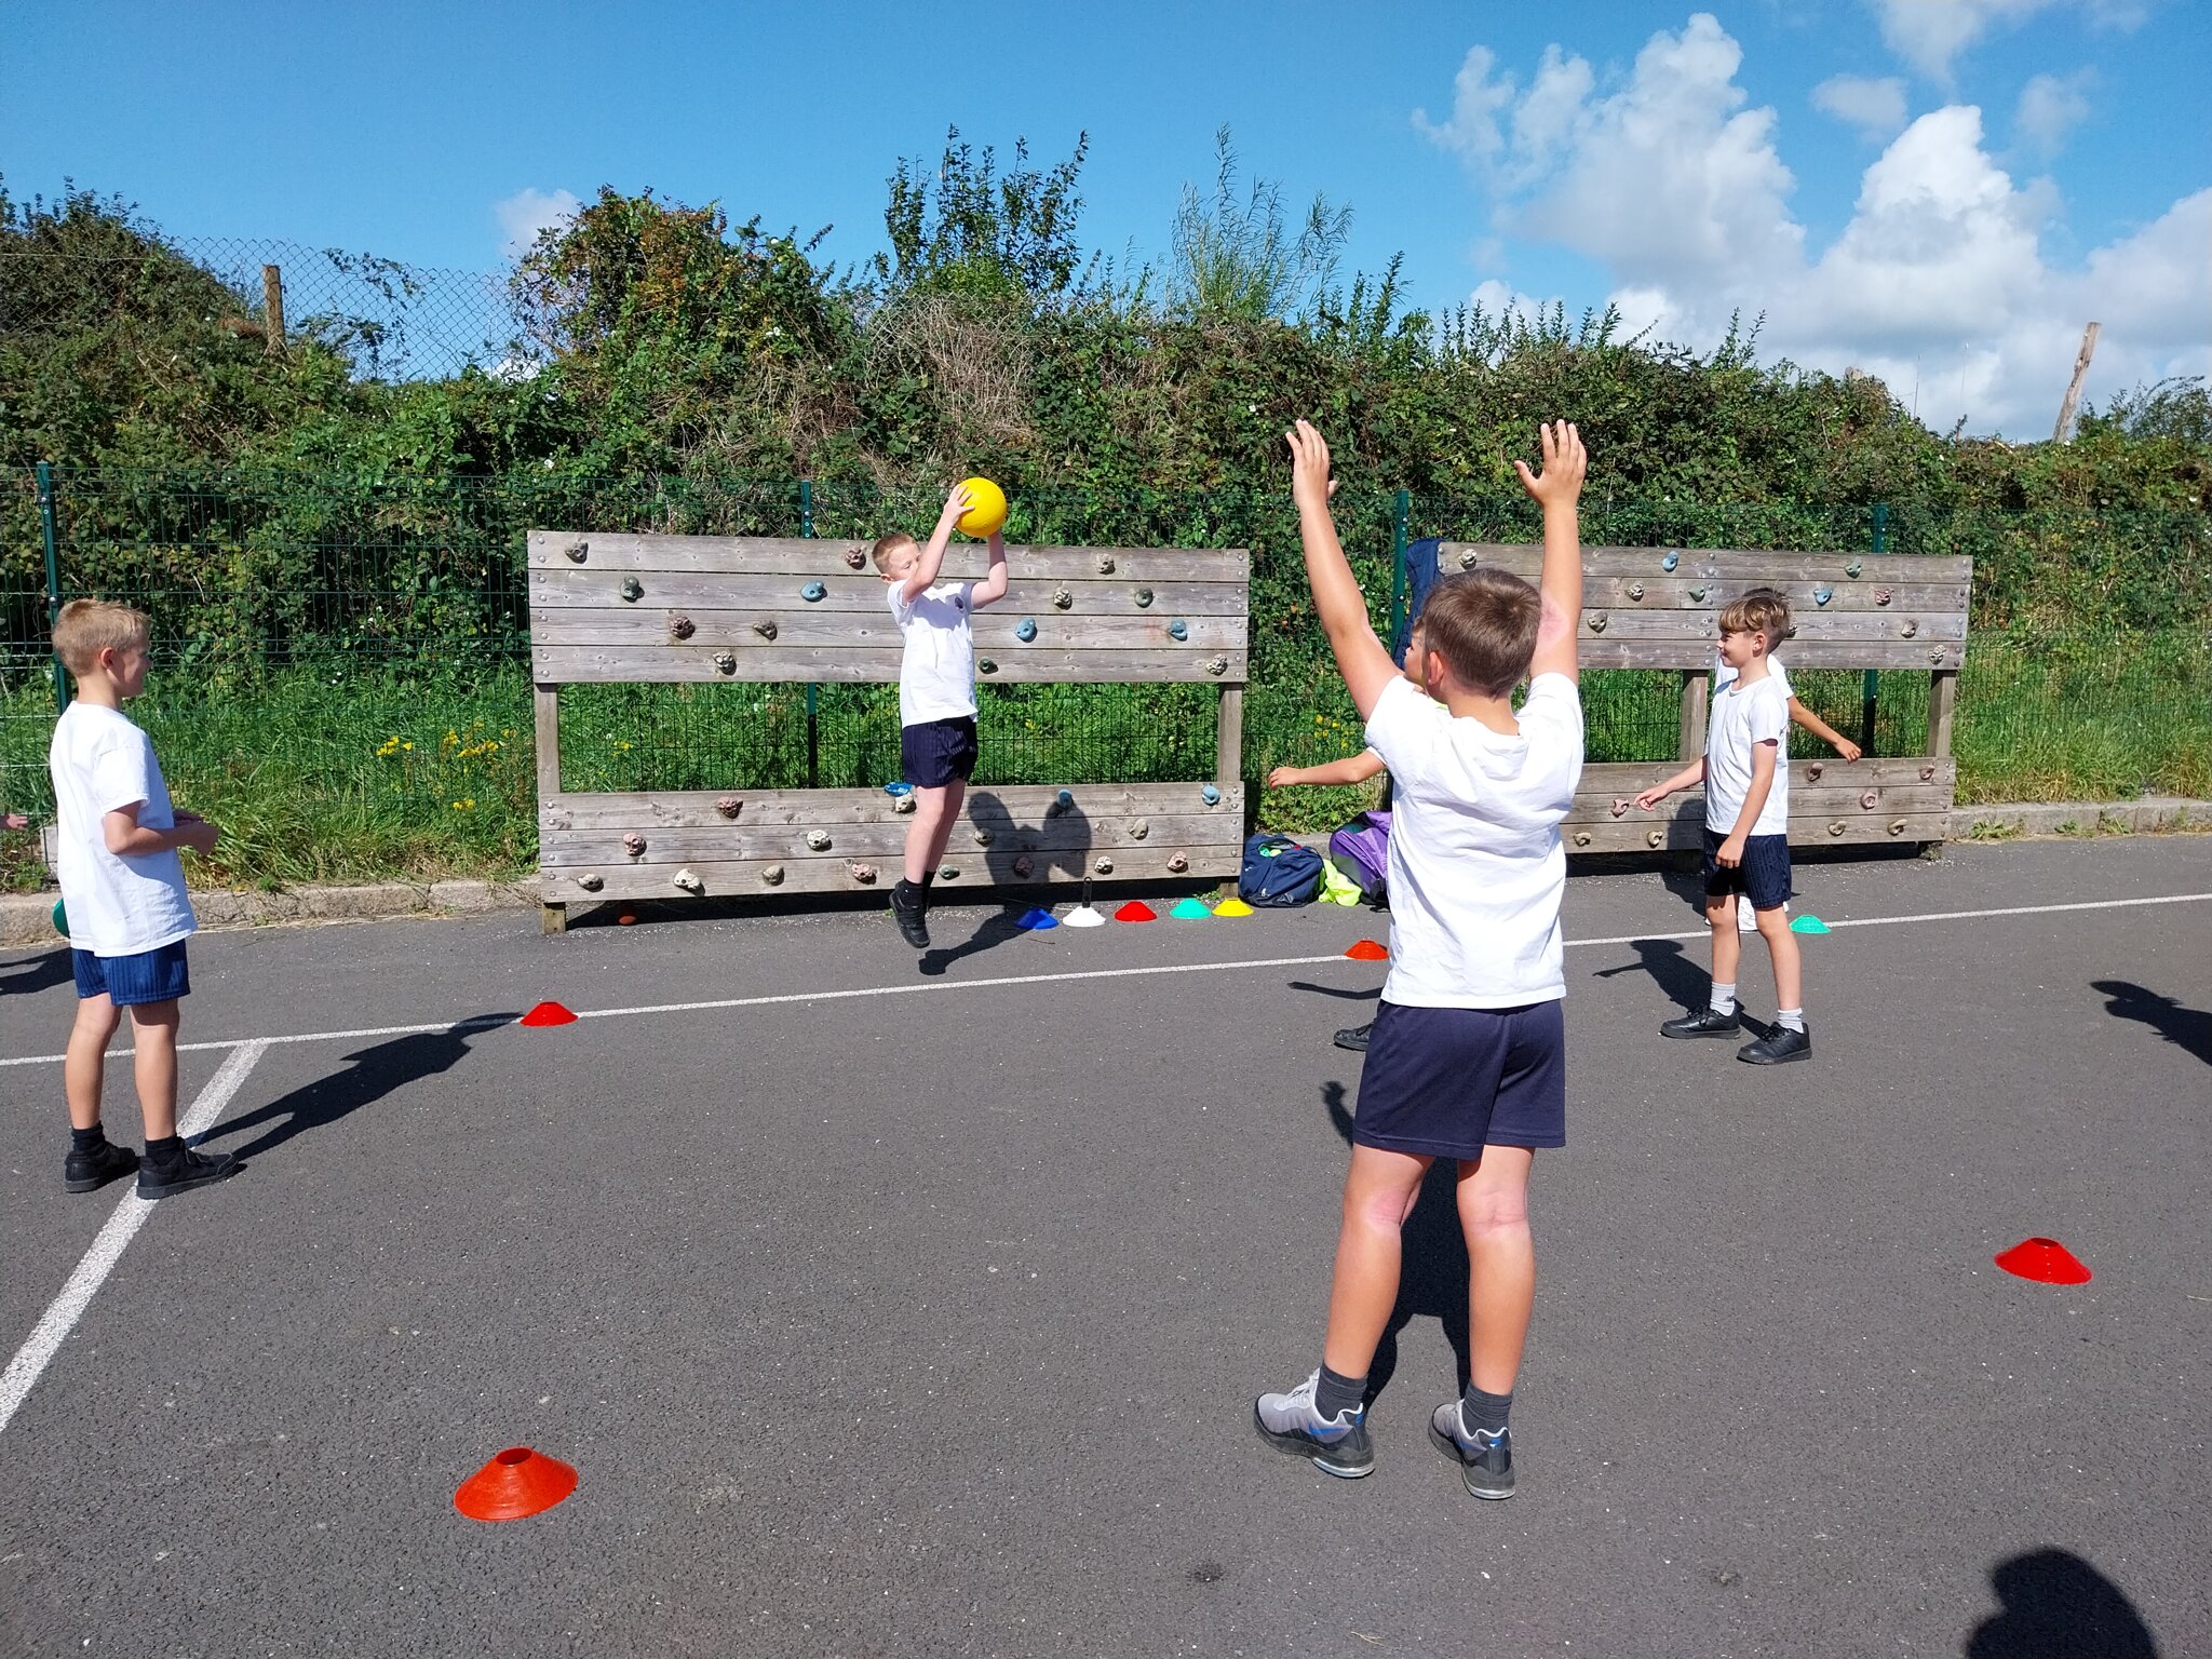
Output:
M1953 841L2013 841L2024 836L2132 836L2212 830L2212 801L2150 794L2139 801L2011 801L1958 807ZM1327 836L1294 836L1327 854ZM0 894L0 949L53 945L53 900L38 894ZM354 887L281 887L274 891L197 889L192 909L208 929L283 927L305 922L385 922L407 916L476 916L489 909L535 909L533 880L380 880Z

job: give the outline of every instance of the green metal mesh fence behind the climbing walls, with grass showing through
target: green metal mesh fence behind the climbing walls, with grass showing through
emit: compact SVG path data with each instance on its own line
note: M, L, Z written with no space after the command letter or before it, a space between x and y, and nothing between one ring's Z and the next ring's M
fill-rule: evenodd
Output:
M529 526L865 538L927 529L936 504L757 478L0 473L0 801L51 810L51 613L97 593L155 617L155 675L133 712L177 796L223 825L232 880L524 867L535 854ZM1385 628L1409 535L1535 540L1540 529L1522 498L1347 489L1336 511ZM1252 549L1248 776L1358 748L1312 619L1287 491L1042 491L1015 502L1009 535ZM1973 553L1962 799L2212 792L2203 515L1593 500L1584 538ZM1586 675L1590 757L1672 757L1677 684ZM1924 743L1924 675L1803 672L1796 684L1838 730L1860 734L1871 719L1874 752ZM1150 781L1212 765L1206 686L980 690L982 781ZM568 787L867 785L898 765L889 686L580 686L564 692L562 719ZM1287 792L1261 796L1259 812L1318 827L1354 803L1354 792ZM38 878L35 843L0 836L0 883Z

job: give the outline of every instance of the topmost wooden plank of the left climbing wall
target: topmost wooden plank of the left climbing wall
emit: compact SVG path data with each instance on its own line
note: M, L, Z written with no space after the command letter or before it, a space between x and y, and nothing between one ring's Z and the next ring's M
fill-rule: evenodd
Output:
M584 542L584 560L566 549ZM774 535L615 535L599 531L531 531L529 564L533 571L699 571L721 575L783 577L849 577L847 553L863 560L874 542L805 540ZM1113 560L1113 571L1099 571ZM991 557L982 542L953 542L945 549L945 575L958 582L982 577ZM1241 546L1009 546L1011 580L1119 580L1119 582L1248 582L1252 555ZM867 575L863 564L858 575Z

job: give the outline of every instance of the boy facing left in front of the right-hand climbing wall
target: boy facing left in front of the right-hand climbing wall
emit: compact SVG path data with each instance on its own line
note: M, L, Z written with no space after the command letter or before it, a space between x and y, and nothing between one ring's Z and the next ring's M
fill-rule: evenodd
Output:
M1759 936L1774 958L1774 1029L1736 1051L1754 1066L1812 1057L1790 900L1790 690L1770 672L1767 653L1790 633L1790 606L1761 588L1721 606L1721 664L1732 677L1712 699L1705 757L1637 796L1650 812L1674 790L1705 785L1705 922L1712 927L1712 1000L1668 1020L1668 1037L1732 1037L1736 1013L1736 894L1752 902Z

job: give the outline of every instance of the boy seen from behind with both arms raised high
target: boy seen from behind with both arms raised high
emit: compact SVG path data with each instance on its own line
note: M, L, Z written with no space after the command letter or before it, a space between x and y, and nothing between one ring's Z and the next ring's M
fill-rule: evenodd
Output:
M1544 509L1542 586L1504 571L1444 577L1402 675L1329 522L1329 449L1303 420L1290 436L1314 611L1394 783L1391 971L1360 1073L1321 1367L1263 1394L1254 1418L1332 1475L1374 1469L1363 1398L1398 1301L1400 1228L1429 1166L1453 1159L1471 1356L1464 1394L1436 1409L1429 1438L1475 1498L1513 1495L1506 1413L1535 1301L1528 1170L1535 1148L1566 1144L1559 821L1582 779L1575 500L1588 460L1573 425L1542 436L1544 471L1520 465Z

